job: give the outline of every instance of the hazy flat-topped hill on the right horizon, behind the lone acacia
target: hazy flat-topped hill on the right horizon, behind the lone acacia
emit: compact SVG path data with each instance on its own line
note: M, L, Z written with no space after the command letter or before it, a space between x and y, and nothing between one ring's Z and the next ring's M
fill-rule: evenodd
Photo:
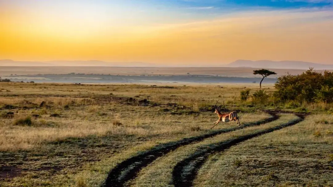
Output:
M273 68L273 69L333 69L331 64L318 64L303 61L271 61L271 60L236 60L227 64L226 67L252 67L252 68Z

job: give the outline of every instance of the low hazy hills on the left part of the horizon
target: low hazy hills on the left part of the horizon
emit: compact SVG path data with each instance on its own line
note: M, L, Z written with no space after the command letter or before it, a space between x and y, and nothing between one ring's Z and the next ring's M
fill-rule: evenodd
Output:
M108 67L147 67L154 64L145 62L104 62L100 60L54 60L54 61L14 61L0 60L0 66L108 66Z

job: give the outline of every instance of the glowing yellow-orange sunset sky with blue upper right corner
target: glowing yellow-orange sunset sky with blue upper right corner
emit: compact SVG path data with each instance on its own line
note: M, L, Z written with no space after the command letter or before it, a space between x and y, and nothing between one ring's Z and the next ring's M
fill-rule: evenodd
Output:
M333 64L333 0L0 0L0 59Z

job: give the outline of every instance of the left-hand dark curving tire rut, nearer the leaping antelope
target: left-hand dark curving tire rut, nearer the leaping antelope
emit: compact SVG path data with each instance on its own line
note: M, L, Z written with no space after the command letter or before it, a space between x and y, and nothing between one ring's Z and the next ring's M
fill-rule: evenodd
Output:
M138 172L152 163L157 158L163 156L166 153L169 153L172 150L175 150L176 148L184 145L188 145L190 143L195 143L202 141L207 138L211 138L223 133L228 133L240 129L244 129L245 127L250 126L258 126L262 124L266 124L275 120L278 120L280 116L276 115L276 112L271 111L265 111L269 115L271 115L270 118L266 118L264 120L260 120L253 123L247 123L242 126L237 126L235 128L230 129L221 129L217 130L208 134L200 135L197 137L191 137L191 138L184 138L179 141L172 141L168 143L163 143L160 145L155 146L149 151L146 151L144 153L141 153L139 155L133 156L127 160L124 160L123 162L119 163L115 168L113 168L109 174L105 182L102 184L102 187L109 187L109 186L124 186L124 184L134 179Z

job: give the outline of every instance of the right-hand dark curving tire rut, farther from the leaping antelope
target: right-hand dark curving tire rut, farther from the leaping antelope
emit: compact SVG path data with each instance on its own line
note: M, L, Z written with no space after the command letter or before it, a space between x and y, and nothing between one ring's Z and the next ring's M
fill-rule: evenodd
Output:
M304 121L304 119L306 117L306 114L297 114L297 113L293 113L293 114L299 118L296 120L290 121L288 123L280 124L276 127L270 128L270 129L259 131L257 133L253 133L253 134L241 136L236 139L220 142L220 143L216 144L215 146L212 145L211 148L207 148L203 151L197 152L197 153L189 156L188 158L182 160L181 162L177 163L177 165L173 168L172 185L174 185L175 187L193 186L193 181L197 175L197 172L201 168L203 163L205 163L205 161L208 159L208 155L228 149L231 146L236 145L245 140L259 137L261 135L271 133L271 132L283 129L285 127L295 125L299 122Z

